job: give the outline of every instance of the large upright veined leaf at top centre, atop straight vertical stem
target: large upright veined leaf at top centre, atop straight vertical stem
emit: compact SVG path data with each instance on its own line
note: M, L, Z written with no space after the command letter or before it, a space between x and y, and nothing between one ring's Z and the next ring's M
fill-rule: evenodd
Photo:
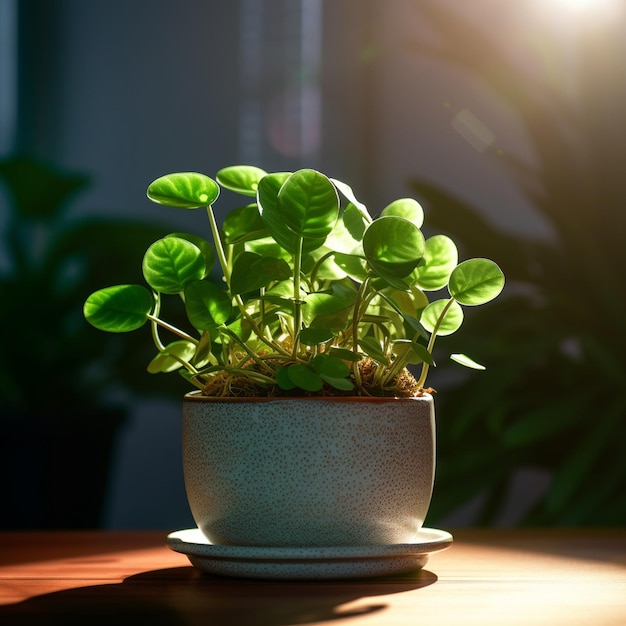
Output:
M277 209L299 237L325 239L339 217L339 197L324 174L299 170L280 188Z

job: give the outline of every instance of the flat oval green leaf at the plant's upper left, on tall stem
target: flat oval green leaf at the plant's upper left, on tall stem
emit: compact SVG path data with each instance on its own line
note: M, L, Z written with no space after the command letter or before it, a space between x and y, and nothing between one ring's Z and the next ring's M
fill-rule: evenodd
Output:
M157 178L148 187L148 198L157 204L197 209L213 204L220 194L218 184L204 174L177 172Z

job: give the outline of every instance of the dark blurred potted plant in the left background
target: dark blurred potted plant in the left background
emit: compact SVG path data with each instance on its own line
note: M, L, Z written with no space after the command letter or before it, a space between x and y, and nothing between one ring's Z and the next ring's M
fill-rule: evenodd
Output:
M135 279L128 243L167 232L100 216L74 218L71 200L88 184L26 156L0 161L6 220L0 259L0 527L100 525L111 453L126 418L114 397L123 372L141 389L145 347L103 341L80 306L94 282ZM114 234L114 235L113 235ZM115 236L115 254L105 242ZM148 378L148 377L146 377ZM145 389L145 388L144 388ZM119 394L117 394L119 396Z

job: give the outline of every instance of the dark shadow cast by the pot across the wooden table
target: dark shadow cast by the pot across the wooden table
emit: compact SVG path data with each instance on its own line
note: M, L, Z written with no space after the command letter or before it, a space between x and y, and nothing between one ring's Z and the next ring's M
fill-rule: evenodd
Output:
M5 605L0 607L0 624L309 624L381 611L387 605L376 602L375 596L412 591L436 581L427 570L361 580L273 582L220 578L177 567L136 574L123 583L57 591ZM367 600L356 602L363 598Z

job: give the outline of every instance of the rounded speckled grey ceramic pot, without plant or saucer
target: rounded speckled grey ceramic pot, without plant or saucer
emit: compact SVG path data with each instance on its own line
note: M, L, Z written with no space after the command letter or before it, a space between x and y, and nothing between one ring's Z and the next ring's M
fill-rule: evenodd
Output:
M213 544L411 543L433 488L433 400L188 394L183 466Z

